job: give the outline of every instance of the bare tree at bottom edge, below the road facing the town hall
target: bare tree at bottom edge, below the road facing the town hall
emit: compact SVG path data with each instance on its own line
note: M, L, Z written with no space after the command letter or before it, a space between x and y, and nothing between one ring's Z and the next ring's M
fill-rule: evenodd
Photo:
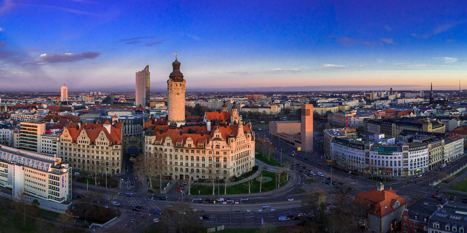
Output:
M186 202L165 206L160 215L159 223L166 225L167 233L198 233L203 231L202 220L193 211L191 204Z

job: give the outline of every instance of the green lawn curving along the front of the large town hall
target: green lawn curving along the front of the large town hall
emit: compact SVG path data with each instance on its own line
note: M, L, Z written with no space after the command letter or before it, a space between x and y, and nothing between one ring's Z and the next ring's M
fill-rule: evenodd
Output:
M262 183L262 192L268 192L268 191L274 190L276 186L276 181L274 180L276 177L276 174L270 171L262 171L261 174L263 174L263 176L265 177L272 178L271 181ZM227 194L230 195L230 194L248 193L248 186L244 184L245 183L227 187ZM281 182L280 187L282 187L285 184L286 184L286 181ZM259 192L259 189L260 189L260 182L254 179L253 184L251 185L250 191L251 193L257 193ZM218 187L216 184L215 189L214 189L214 195L218 194L217 190L218 190ZM185 189L185 191L188 192L188 189ZM201 195L212 195L212 186L195 185L191 187L191 195L198 195L198 191L199 191L199 194ZM224 185L220 184L219 192L220 192L220 195L224 195Z

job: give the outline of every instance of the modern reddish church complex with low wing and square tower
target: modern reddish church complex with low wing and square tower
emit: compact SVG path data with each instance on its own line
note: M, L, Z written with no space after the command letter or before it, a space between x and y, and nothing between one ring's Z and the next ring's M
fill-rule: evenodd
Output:
M302 104L301 109L301 121L270 121L269 130L273 137L310 152L313 150L313 105Z

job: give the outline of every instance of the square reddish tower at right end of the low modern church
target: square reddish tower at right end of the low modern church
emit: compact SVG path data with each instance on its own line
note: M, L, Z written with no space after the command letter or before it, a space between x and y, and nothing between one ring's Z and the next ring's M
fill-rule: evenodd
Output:
M313 150L313 104L302 104L302 118L300 121L302 136L302 151Z

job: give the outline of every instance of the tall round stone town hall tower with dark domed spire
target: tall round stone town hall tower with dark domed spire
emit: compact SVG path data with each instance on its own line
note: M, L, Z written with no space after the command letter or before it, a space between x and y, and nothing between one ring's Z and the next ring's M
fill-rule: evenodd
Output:
M175 54L175 62L172 62L172 73L167 80L167 92L169 93L169 115L167 123L177 123L177 126L185 124L185 79L180 72L180 62L177 61L177 53Z

